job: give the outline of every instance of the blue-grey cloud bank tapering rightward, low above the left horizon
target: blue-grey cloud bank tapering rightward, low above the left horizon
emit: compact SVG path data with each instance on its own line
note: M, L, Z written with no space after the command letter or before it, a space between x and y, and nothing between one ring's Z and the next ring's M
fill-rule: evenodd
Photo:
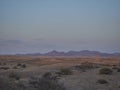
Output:
M4 40L0 39L0 54L34 53L58 48L56 45L36 40Z

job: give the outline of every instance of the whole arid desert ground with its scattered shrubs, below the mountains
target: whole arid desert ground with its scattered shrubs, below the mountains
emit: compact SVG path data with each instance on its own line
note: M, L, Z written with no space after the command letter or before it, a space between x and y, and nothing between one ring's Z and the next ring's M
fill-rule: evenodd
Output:
M35 84L43 77L60 85ZM0 84L0 90L120 90L120 57L0 56Z

